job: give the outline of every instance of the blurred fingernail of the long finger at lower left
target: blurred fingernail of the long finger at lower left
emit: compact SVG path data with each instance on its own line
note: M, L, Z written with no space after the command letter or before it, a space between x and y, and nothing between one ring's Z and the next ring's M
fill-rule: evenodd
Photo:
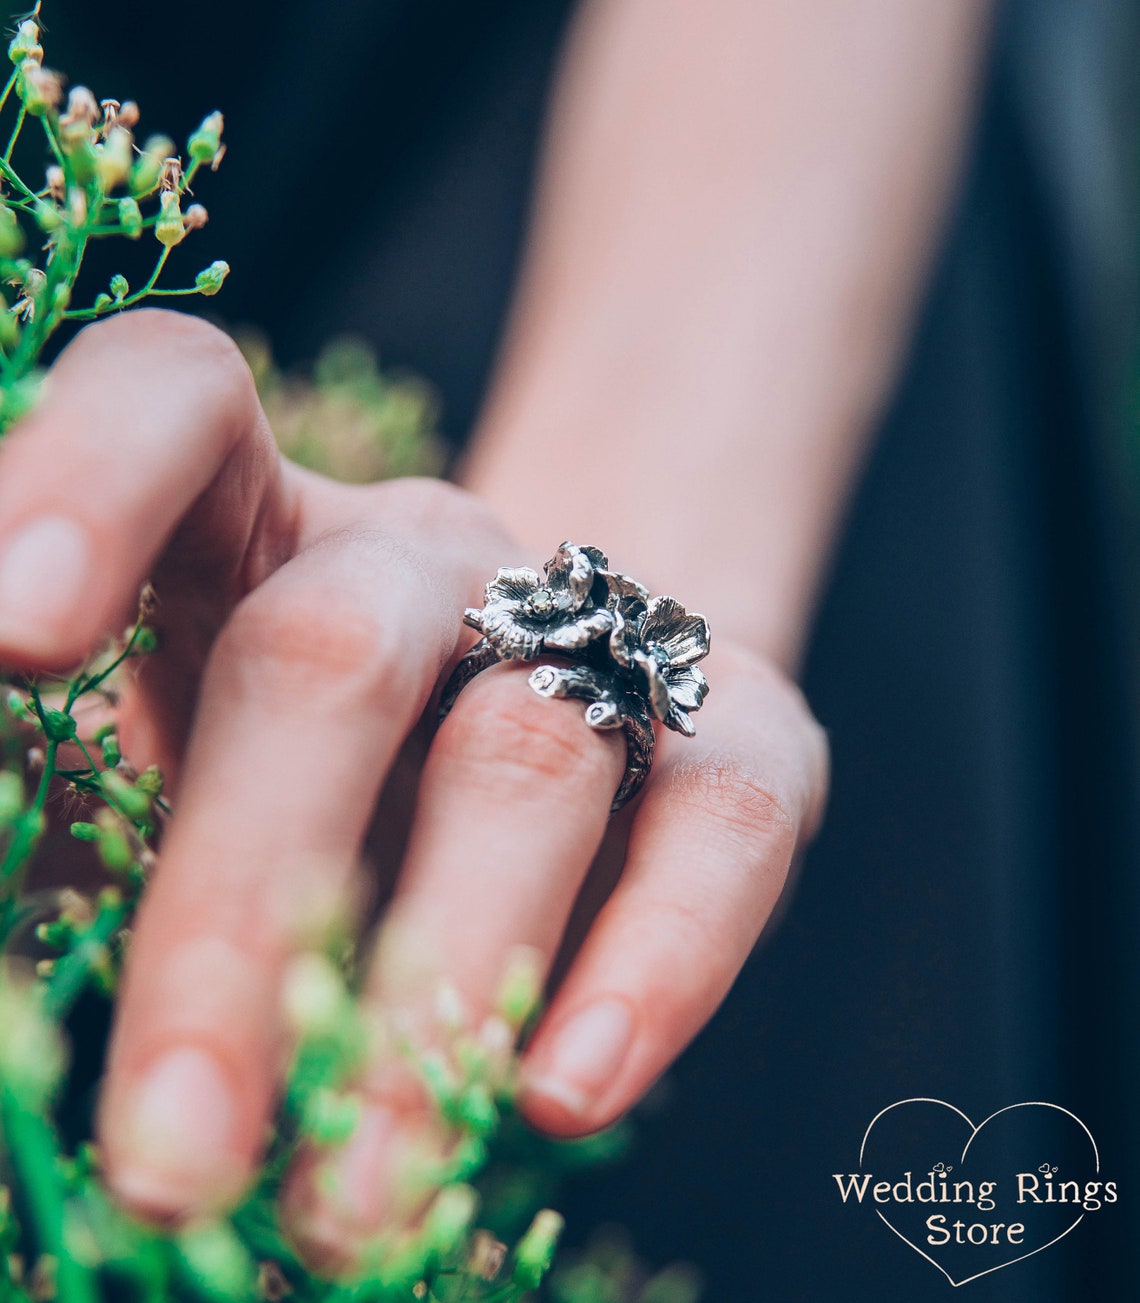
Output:
M237 1105L212 1055L169 1050L125 1101L112 1170L116 1191L171 1216L227 1197L240 1181Z

